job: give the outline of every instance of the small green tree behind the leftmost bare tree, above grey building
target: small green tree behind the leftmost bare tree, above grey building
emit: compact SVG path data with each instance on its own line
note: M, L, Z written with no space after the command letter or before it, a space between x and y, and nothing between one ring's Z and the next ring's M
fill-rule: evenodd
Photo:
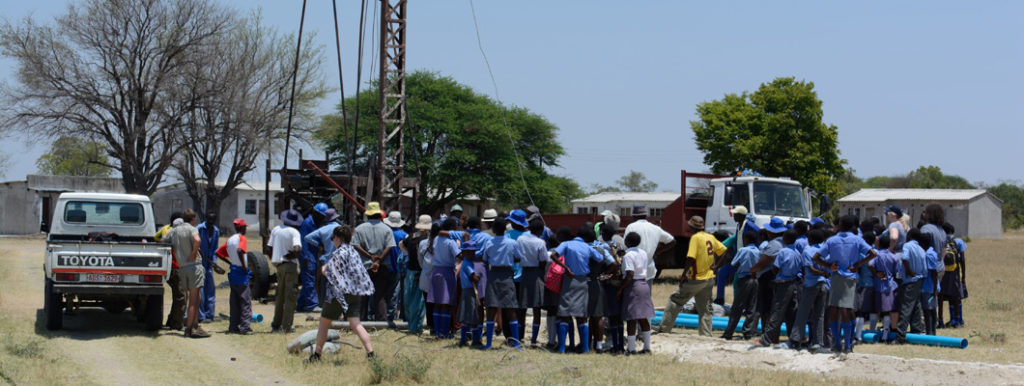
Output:
M36 167L43 174L85 177L108 177L112 171L102 143L71 136L53 141Z

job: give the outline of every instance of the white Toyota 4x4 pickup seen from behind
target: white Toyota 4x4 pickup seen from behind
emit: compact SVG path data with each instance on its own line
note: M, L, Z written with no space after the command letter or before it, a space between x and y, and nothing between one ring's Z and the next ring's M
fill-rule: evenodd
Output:
M146 329L160 329L171 247L155 242L155 221L145 196L61 194L43 261L46 328L62 328L65 309L130 306Z

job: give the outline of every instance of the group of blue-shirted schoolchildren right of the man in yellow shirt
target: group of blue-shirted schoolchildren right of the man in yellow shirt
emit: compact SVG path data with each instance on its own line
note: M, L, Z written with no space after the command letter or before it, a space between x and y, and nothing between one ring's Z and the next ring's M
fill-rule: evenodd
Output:
M967 245L954 238L938 205L925 208L916 227L908 220L891 206L888 226L878 218L858 223L853 215L835 225L819 218L788 225L772 218L761 229L742 223L725 241L738 248L731 261L735 297L722 338L733 339L740 329L752 339L760 326L763 346L847 353L865 330L878 331L883 342L905 343L907 333L963 327ZM942 302L949 304L948 323ZM783 323L790 339L779 343Z

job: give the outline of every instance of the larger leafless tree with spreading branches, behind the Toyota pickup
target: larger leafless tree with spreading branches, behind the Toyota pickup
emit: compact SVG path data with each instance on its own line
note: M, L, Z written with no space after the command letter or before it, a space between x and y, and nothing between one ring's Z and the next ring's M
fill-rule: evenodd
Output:
M171 92L230 12L210 0L86 0L54 26L0 26L17 85L0 88L0 126L102 142L126 191L161 183L186 110Z

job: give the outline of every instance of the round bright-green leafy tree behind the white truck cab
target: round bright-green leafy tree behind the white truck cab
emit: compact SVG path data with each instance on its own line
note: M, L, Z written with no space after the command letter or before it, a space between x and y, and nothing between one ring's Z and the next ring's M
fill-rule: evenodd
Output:
M750 169L819 191L841 190L846 160L837 127L822 122L814 83L776 78L753 93L698 103L696 113L690 127L713 172Z

